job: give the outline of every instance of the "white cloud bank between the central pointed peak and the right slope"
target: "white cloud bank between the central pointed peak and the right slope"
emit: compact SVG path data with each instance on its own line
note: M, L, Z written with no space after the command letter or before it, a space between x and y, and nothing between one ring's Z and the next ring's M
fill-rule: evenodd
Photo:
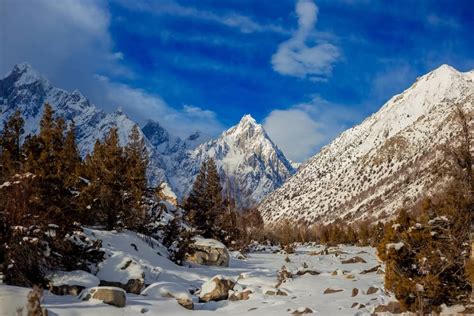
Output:
M263 126L286 157L303 162L360 120L361 114L352 109L316 96L306 103L273 110Z

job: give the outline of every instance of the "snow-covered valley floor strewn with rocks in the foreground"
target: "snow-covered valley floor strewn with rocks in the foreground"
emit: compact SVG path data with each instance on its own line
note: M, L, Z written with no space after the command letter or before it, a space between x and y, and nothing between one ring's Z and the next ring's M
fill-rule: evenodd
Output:
M91 238L102 239L107 253L107 259L95 272L97 277L110 281L125 280L127 273L134 276L143 272L146 283L154 284L145 291L146 296L127 293L124 308L100 301L80 301L76 296L56 296L45 291L43 306L48 309L49 315L288 315L306 308L320 315L365 315L370 314L375 306L393 300L383 291L383 274L361 274L363 270L380 264L374 249L369 247L341 246L334 249L335 253L330 251L327 255L319 255L316 253L323 249L322 246L305 245L298 247L295 254L288 255L289 262L286 254L273 253L274 249L269 248L267 251L252 252L246 259L233 257L228 268L181 267L166 259L162 249L152 248L150 242L143 241L132 232L117 234L86 230L86 233ZM236 253L232 255L237 257ZM360 257L366 263L342 263L353 257ZM127 261L133 263L128 263L124 270L118 268ZM283 265L294 277L276 288L277 274ZM311 271L314 275L303 274L304 271ZM319 274L316 275L316 272ZM234 289L249 289L253 293L243 301L199 303L198 296L190 294L189 290L199 289L215 275L236 281ZM378 290L367 294L371 287L372 291L374 288ZM342 291L324 294L328 288ZM358 289L358 293L353 297L354 288ZM0 315L15 315L17 308L26 302L28 290L0 285ZM191 298L194 310L180 306L167 293L176 298ZM359 308L359 304L365 307Z

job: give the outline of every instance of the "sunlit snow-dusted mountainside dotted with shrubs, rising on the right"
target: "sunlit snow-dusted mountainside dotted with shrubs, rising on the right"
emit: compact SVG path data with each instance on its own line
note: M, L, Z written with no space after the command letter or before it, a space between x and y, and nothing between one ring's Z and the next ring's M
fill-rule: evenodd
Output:
M443 184L442 144L474 112L474 71L443 65L325 146L259 206L265 222L385 217ZM471 131L474 129L471 129Z

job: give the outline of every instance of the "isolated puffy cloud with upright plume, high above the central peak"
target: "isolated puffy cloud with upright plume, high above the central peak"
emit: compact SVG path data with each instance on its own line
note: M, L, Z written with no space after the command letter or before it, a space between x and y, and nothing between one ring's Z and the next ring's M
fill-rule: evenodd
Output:
M296 14L298 29L289 40L280 44L272 56L273 70L313 81L325 80L331 74L333 64L339 59L340 51L327 42L308 46L311 35L315 32L318 15L318 7L314 2L299 0Z

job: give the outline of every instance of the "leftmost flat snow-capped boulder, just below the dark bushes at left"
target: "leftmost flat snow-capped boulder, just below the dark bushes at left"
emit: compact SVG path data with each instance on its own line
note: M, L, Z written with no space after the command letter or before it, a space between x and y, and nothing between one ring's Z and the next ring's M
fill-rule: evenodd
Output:
M56 271L46 276L48 288L55 295L79 295L82 290L99 285L99 279L82 270Z

